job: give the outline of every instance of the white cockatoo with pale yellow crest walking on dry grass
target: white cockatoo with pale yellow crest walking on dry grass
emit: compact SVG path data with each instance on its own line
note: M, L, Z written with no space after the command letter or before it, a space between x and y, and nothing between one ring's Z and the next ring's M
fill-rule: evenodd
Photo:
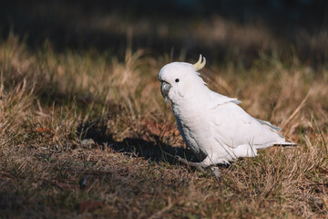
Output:
M202 161L193 164L230 163L239 157L254 157L258 149L295 145L285 141L280 128L242 110L238 99L210 90L198 73L205 63L200 55L194 65L172 62L159 71L160 90L171 103L179 132Z

